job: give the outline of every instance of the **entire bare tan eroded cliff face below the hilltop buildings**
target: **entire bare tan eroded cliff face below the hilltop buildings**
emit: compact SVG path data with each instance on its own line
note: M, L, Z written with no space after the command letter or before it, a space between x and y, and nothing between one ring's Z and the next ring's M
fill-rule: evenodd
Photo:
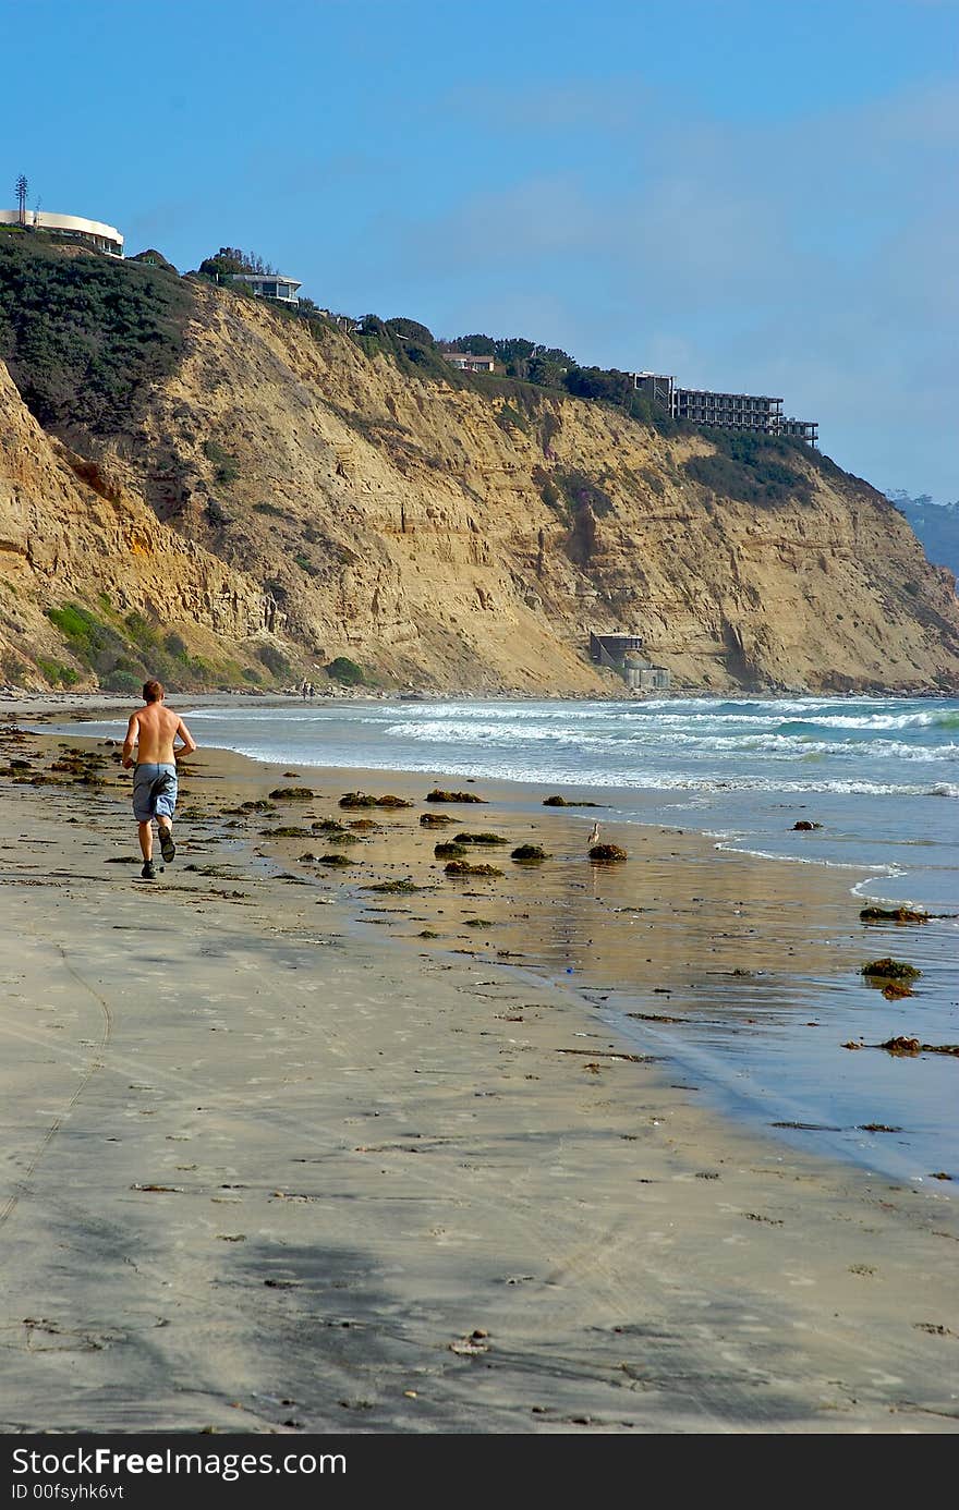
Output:
M195 311L136 423L68 436L94 486L0 387L0 571L32 601L66 572L234 648L272 631L298 667L436 689L621 692L591 628L689 687L959 684L951 578L828 464L797 453L796 497L737 503L686 470L705 436L420 381L207 285Z

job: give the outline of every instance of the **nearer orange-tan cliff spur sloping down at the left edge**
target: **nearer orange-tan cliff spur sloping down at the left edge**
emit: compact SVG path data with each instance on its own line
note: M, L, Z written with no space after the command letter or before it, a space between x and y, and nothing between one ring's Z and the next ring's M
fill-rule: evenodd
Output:
M79 686L95 684L47 618L72 599L119 624L148 615L214 658L270 618L251 577L157 519L128 468L47 436L0 362L0 672L42 686L39 660L72 664Z

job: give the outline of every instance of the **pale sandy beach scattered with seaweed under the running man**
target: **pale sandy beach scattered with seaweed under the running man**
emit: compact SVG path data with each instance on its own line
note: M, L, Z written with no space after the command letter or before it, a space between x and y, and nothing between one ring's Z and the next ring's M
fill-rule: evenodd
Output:
M3 1431L956 1430L956 1200L743 1131L660 1054L690 972L823 950L838 882L657 829L598 874L589 814L533 823L504 785L429 803L421 775L201 750L150 885L116 747L17 725ZM501 877L446 877L459 830L507 840L470 850ZM597 898L630 947L640 858L663 921L625 1036L613 975L578 975Z

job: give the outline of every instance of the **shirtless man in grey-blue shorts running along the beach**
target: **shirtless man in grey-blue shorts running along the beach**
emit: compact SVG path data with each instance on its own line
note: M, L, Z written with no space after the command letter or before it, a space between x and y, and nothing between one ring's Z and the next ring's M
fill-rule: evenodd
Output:
M145 707L130 714L124 740L124 770L133 766L133 815L143 856L140 871L143 880L157 879L153 864L154 818L160 834L160 853L168 865L177 853L172 832L177 806L177 757L192 755L196 749L196 740L183 719L163 707L165 698L162 681L143 683ZM180 740L178 747L175 740Z

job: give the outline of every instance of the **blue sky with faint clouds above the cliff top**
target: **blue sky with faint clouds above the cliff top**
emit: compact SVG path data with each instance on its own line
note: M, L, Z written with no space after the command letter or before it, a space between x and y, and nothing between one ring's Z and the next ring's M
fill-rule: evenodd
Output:
M772 393L959 497L959 0L0 0L0 171L180 269Z

